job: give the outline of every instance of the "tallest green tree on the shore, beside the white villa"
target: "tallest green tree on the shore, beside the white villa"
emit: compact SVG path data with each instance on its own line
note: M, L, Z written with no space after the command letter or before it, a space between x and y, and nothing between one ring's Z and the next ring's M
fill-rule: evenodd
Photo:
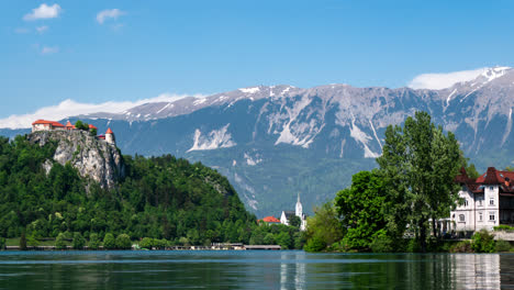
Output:
M454 182L463 156L451 132L444 134L431 115L416 112L403 129L388 126L382 156L377 158L388 190L388 220L401 236L406 223L426 252L428 220L434 233L437 219L456 207L459 186ZM403 222L402 222L403 219Z

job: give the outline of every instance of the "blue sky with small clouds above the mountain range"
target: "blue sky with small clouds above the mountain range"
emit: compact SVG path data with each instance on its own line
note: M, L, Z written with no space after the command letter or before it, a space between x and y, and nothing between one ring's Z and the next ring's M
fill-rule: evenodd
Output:
M429 87L418 80L514 66L507 0L1 4L0 127L259 85Z

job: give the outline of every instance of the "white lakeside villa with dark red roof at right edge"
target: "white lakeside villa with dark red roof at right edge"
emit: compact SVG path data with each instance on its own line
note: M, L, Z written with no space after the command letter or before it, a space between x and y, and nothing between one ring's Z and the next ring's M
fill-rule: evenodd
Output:
M462 168L456 181L462 186L459 197L463 203L450 212L452 231L492 231L500 224L514 224L514 172L489 167L472 179Z

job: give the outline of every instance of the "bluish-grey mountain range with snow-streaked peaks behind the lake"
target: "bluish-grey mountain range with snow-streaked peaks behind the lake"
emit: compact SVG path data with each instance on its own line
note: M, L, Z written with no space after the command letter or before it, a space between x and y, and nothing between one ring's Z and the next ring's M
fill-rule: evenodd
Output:
M514 69L493 67L440 90L259 86L70 118L111 127L127 154L172 154L225 175L257 216L332 199L376 167L390 124L423 110L452 131L477 168L514 161ZM0 130L12 136L26 130Z

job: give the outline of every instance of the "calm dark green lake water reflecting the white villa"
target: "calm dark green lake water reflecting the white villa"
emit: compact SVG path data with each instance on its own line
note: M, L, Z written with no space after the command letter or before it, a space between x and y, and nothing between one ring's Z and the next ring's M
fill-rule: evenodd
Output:
M0 252L0 289L514 289L511 254Z

